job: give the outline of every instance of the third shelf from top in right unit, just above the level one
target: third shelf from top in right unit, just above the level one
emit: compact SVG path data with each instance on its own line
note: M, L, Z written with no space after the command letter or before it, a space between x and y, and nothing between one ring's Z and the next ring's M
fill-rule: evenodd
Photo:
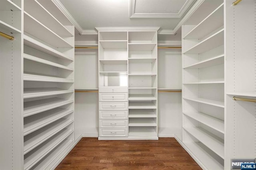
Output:
M213 57L208 60L201 61L199 63L191 64L190 66L186 66L184 68L206 68L211 66L216 66L219 64L224 64L224 55L219 55L217 57Z

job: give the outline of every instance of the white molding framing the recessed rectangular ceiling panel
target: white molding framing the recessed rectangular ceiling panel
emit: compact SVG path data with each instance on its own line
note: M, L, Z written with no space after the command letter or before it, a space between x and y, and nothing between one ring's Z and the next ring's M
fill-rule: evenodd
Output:
M186 0L178 13L135 13L136 0L130 0L130 18L181 18L194 0Z

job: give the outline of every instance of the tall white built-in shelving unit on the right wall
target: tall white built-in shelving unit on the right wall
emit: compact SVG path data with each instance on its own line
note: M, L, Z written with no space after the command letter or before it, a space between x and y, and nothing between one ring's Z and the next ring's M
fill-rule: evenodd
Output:
M182 26L182 142L205 169L224 169L225 158L224 3L218 2L197 25Z

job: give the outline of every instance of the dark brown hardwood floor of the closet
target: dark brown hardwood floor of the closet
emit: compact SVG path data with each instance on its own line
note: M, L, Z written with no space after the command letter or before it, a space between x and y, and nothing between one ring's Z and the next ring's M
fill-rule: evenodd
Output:
M98 141L82 138L56 170L201 170L174 138Z

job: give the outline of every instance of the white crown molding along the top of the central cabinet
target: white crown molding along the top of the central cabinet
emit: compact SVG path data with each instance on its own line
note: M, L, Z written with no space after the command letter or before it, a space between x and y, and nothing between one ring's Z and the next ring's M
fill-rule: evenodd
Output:
M158 31L160 27L95 27L98 31Z

